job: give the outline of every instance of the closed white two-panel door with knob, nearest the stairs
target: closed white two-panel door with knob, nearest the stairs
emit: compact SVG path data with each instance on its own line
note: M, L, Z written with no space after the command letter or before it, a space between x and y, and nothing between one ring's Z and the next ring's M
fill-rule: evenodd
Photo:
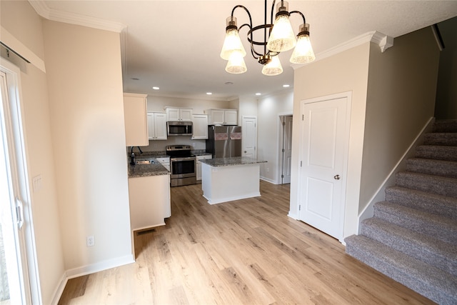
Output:
M347 104L347 96L301 104L300 219L337 239L343 237Z

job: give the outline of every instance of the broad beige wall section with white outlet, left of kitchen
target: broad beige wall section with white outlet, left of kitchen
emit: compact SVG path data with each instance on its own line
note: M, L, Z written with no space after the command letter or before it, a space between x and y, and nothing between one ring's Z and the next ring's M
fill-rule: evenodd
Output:
M67 273L131 261L119 34L44 21ZM95 246L86 246L86 236Z

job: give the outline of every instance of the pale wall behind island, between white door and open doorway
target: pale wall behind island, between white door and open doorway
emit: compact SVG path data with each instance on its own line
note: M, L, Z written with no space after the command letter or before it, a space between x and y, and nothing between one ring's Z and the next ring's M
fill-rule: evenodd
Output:
M293 91L259 99L257 111L257 158L267 161L260 166L260 176L266 181L280 184L280 116L292 114Z

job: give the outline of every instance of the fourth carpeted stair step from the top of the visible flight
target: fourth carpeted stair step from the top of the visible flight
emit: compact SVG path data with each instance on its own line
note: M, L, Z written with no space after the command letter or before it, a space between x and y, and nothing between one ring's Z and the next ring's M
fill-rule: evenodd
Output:
M457 178L457 161L411 158L406 160L406 171Z

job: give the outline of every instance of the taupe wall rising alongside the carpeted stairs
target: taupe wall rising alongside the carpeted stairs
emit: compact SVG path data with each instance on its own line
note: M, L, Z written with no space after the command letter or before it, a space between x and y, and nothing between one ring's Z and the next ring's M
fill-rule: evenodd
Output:
M430 27L371 44L359 212L433 116L438 60Z

